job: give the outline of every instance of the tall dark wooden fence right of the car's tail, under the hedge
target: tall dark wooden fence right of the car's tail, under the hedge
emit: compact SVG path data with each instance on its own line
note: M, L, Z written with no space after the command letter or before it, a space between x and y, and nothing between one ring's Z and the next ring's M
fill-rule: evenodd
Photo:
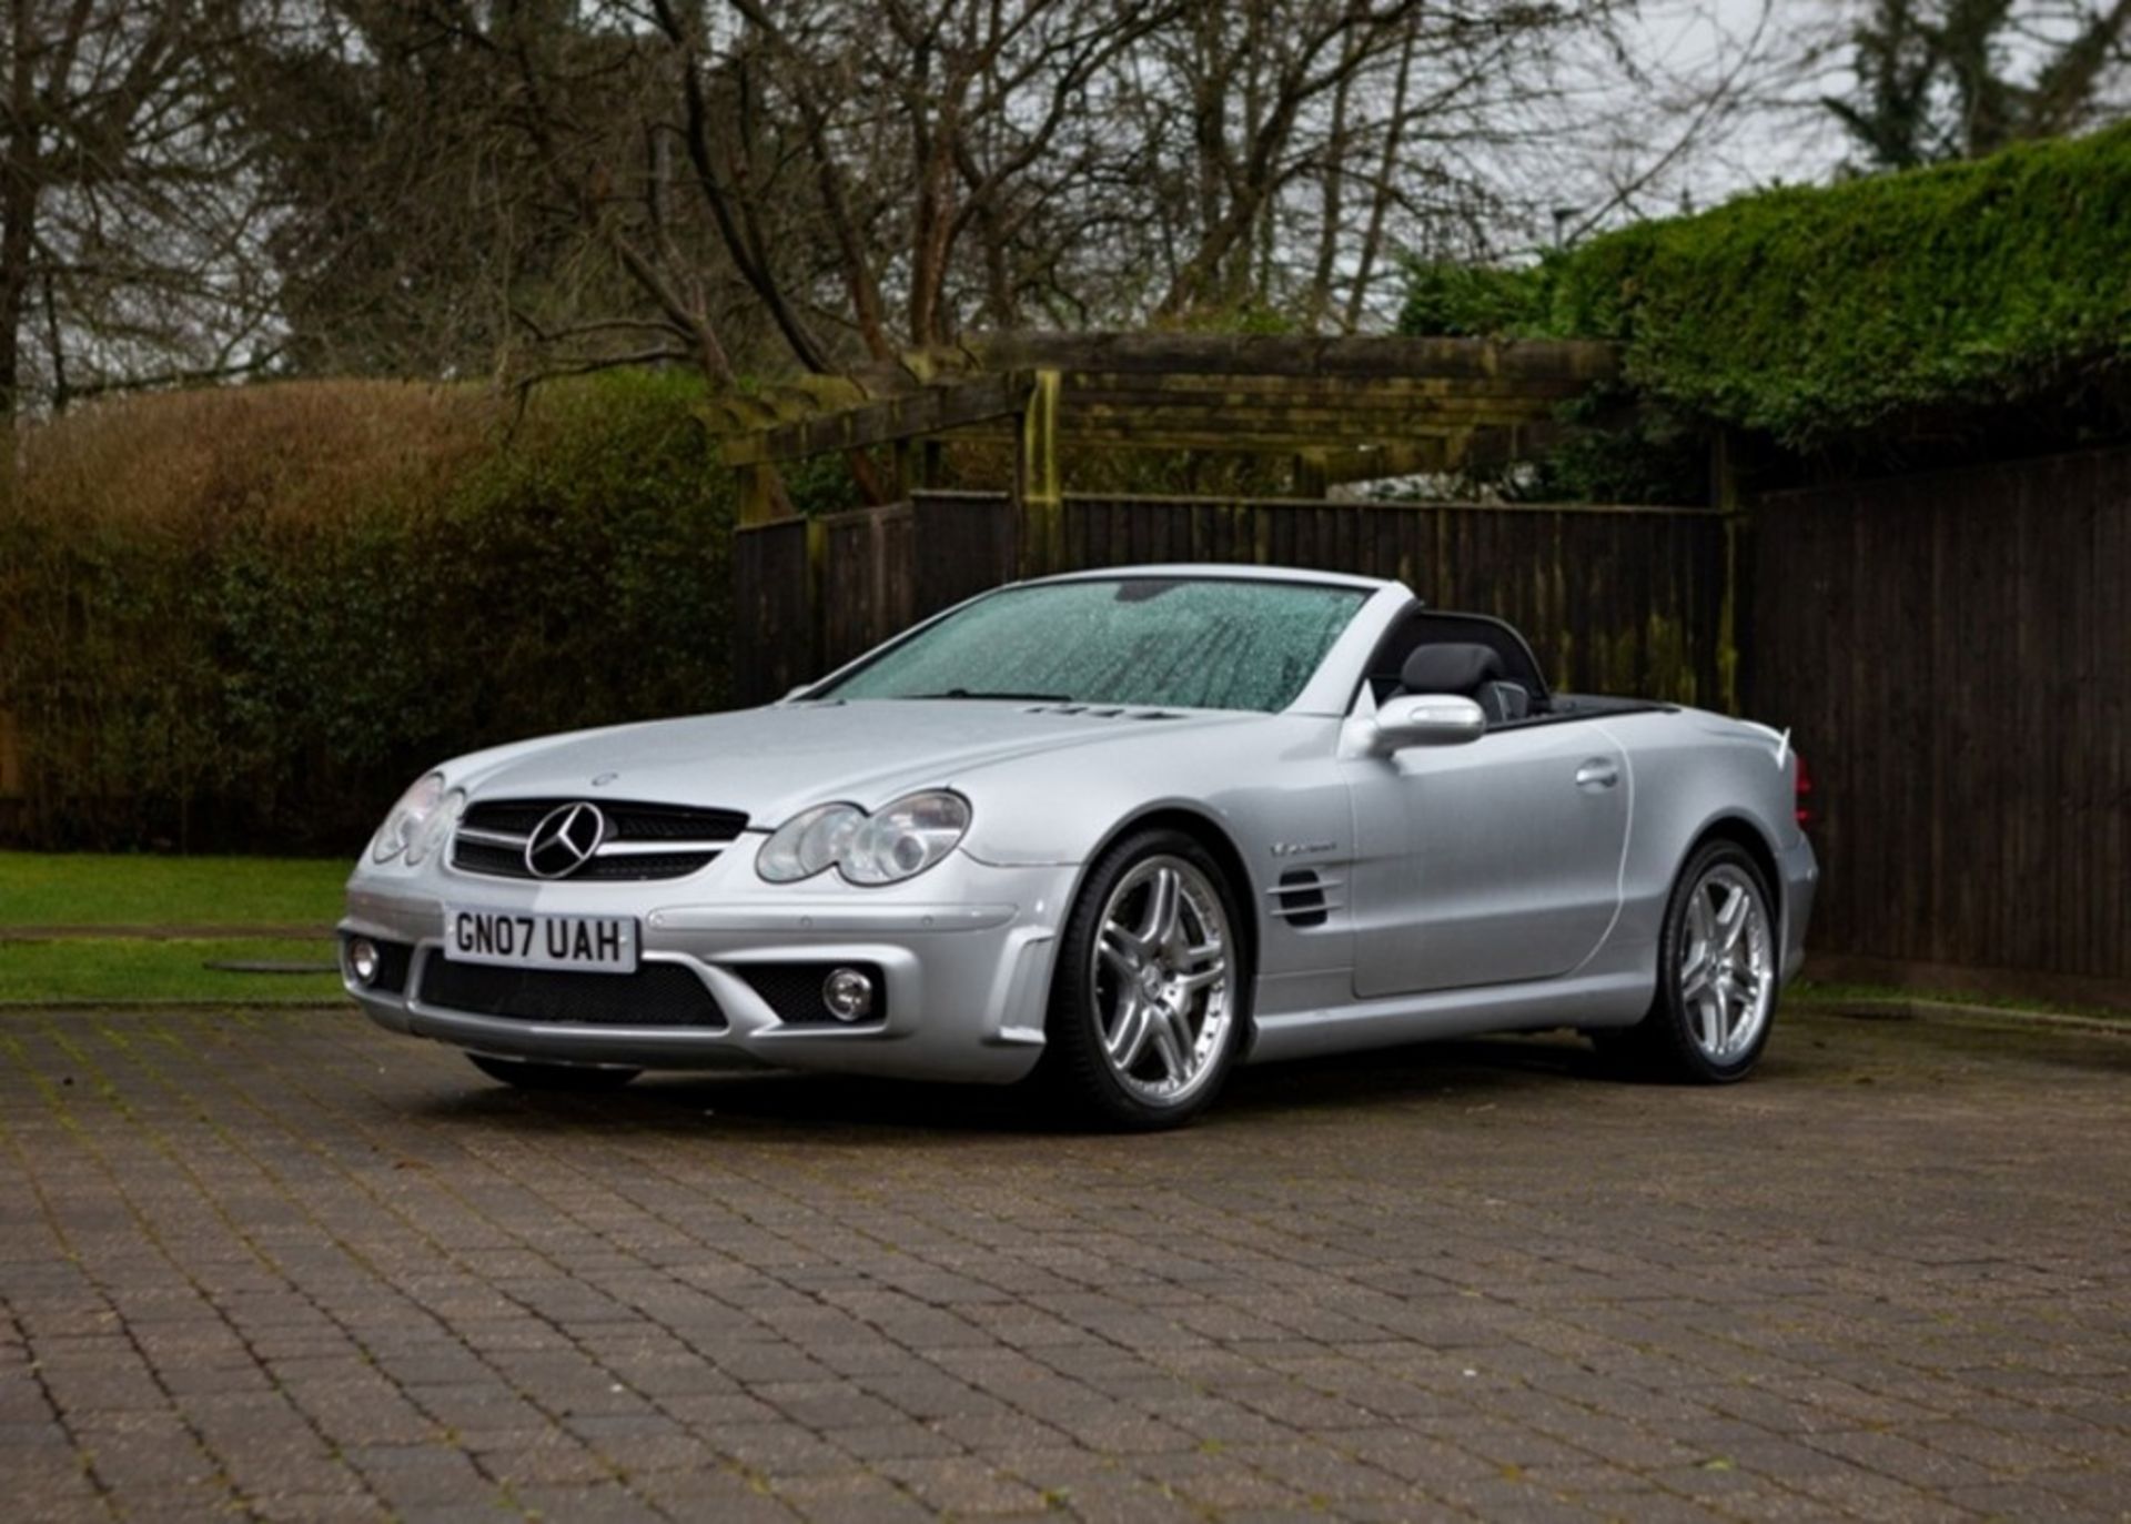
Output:
M1822 780L1816 951L2131 1000L2131 450L1754 524L1747 701Z

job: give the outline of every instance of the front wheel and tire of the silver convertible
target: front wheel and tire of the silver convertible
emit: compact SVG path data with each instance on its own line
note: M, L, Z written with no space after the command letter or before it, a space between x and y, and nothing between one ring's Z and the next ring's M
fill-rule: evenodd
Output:
M1227 874L1183 831L1138 831L1089 870L1059 940L1046 1083L1076 1119L1181 1128L1221 1093L1249 1021Z

